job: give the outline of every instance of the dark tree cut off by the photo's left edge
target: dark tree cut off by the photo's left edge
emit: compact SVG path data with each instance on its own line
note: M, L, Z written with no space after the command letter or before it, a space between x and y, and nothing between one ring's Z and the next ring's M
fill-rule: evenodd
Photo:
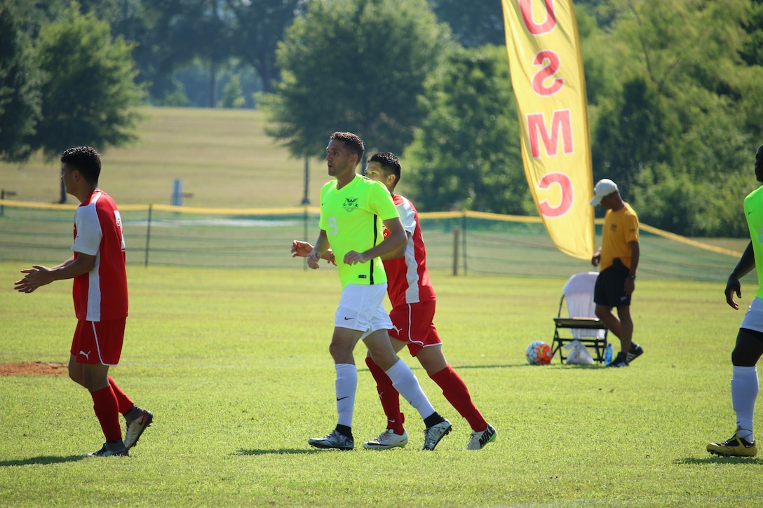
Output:
M23 161L40 120L41 76L14 3L0 2L0 159Z

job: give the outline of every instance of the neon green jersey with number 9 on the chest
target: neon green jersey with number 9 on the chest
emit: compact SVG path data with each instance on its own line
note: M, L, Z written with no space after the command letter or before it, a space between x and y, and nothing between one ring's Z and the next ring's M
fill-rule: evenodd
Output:
M344 255L354 250L365 252L384 240L382 220L399 217L392 197L381 182L356 175L343 188L336 181L320 189L320 229L336 258L342 288L348 284L372 285L387 281L380 258L371 262L346 265Z

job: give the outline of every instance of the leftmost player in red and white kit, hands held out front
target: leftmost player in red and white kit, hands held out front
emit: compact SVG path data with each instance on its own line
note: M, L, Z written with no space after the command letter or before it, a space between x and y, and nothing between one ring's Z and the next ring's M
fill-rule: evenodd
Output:
M77 146L61 156L61 180L66 192L80 201L74 215L74 254L60 265L32 265L14 289L31 293L40 286L74 279L72 298L77 327L69 356L69 378L87 388L106 442L87 455L128 455L153 414L137 407L108 375L119 363L127 320L127 272L124 235L117 205L98 188L101 156L89 146ZM124 415L124 440L119 423Z

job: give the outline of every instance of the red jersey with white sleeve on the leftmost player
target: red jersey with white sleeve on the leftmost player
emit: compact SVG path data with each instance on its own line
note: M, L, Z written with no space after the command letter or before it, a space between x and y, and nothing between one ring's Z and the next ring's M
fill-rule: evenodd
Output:
M93 191L74 214L74 257L95 256L95 266L74 278L72 297L78 320L107 321L127 317L127 272L124 234L117 205Z

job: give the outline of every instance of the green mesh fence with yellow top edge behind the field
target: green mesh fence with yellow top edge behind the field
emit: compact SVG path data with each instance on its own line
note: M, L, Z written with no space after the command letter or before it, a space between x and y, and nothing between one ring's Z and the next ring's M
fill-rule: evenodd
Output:
M58 263L71 256L73 205L0 201L0 260ZM315 207L278 210L120 207L131 265L304 269L291 240L313 242ZM432 270L456 275L568 277L591 267L559 252L535 217L420 214ZM600 238L597 225L597 240ZM725 281L741 252L642 225L639 276Z

